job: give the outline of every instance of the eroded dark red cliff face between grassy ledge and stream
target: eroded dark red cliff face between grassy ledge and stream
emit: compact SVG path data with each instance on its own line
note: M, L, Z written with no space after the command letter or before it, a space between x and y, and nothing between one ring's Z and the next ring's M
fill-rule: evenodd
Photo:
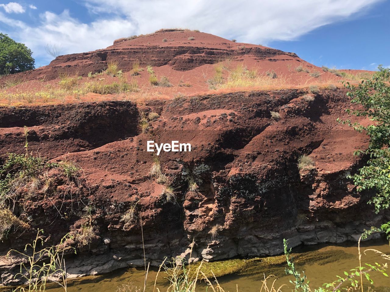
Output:
M113 101L1 108L2 155L24 151L26 125L30 151L83 170L77 196L57 175L55 192L41 189L23 200L16 215L32 228L9 234L0 244L2 255L24 247L38 228L55 244L67 232L80 232L88 214L95 236L77 247L77 256L69 255L73 276L144 266L141 226L152 265L165 256L275 255L283 238L291 246L356 240L383 220L346 178L361 163L353 151L367 147L368 137L337 123L350 107L344 90L305 94L250 91L142 106ZM159 117L149 119L142 133L139 120L151 112ZM192 149L156 158L146 151L151 140L191 143ZM314 168L298 169L302 154ZM156 163L165 182L150 175ZM168 185L174 200L164 194ZM125 223L130 208L135 216ZM3 284L16 281L11 270L17 263L2 257Z

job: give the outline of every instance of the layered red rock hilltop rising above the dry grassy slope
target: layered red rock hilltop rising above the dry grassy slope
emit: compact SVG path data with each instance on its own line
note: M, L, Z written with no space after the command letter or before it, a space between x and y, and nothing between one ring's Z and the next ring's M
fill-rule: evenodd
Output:
M188 39L191 37L194 37L193 41ZM167 42L163 42L163 39ZM58 56L47 66L3 77L0 85L10 80L49 81L57 79L60 74L87 76L89 72L104 71L108 62L117 62L123 72L132 70L136 61L142 67L169 65L175 70L187 71L227 59L242 61L244 56L249 56L257 62L272 62L275 58L302 61L295 53L260 45L240 45L209 33L164 30L135 39L117 39L112 46L105 49Z

